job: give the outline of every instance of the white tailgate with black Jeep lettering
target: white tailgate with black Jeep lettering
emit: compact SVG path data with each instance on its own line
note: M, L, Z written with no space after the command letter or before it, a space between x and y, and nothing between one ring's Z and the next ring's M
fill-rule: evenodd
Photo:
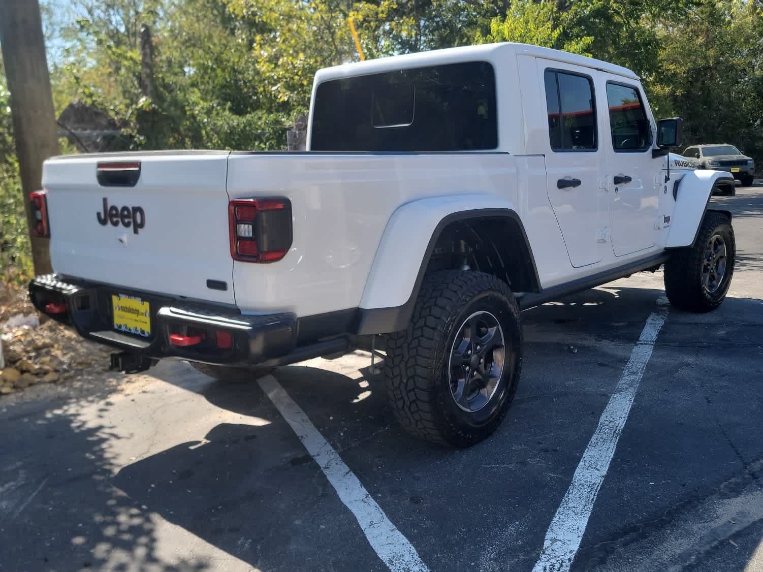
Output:
M125 289L234 304L227 156L120 153L47 160L43 187L53 270ZM101 185L99 163L101 182L120 182L108 178L110 166L118 171L140 163L140 175L134 186Z

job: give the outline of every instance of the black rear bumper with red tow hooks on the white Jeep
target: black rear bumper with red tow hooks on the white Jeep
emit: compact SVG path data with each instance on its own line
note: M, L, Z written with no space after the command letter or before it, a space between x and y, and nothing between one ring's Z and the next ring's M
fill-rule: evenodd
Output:
M112 294L130 294L150 303L149 337L113 328ZM179 358L221 365L281 365L289 362L290 355L294 356L293 361L300 357L298 320L293 313L243 316L239 310L223 305L175 300L60 275L37 276L29 284L29 295L37 310L74 326L83 337L146 358ZM218 332L230 334L230 338L221 338ZM201 341L175 345L170 341L173 334L195 336ZM221 343L220 339L224 341ZM335 343L327 349L339 351L339 346Z

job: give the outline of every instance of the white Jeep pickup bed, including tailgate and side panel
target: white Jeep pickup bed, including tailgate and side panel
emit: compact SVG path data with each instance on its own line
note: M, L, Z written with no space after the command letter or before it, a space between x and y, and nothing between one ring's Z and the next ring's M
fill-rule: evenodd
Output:
M230 304L243 313L311 316L358 307L394 210L452 194L497 193L511 200L517 159L507 153L225 151L54 158L43 172L53 268L102 284ZM98 164L113 162L140 162L137 183L99 184ZM530 169L523 181L535 175L545 184L542 158L519 164ZM234 261L229 201L272 197L291 201L291 249L269 264ZM140 207L143 227L99 223L104 201L120 211ZM548 210L545 193L539 207L543 203Z

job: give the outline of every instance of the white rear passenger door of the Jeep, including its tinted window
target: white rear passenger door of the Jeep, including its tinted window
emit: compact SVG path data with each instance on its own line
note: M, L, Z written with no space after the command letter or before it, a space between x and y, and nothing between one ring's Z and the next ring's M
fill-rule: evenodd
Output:
M546 59L537 64L549 117L546 192L570 262L579 268L602 259L599 239L607 226L607 199L600 188L606 162L594 88L599 72Z

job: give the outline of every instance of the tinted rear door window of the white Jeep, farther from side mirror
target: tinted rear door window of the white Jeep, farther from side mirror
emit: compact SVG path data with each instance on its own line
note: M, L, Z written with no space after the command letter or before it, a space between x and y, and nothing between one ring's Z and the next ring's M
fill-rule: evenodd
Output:
M552 151L598 149L594 84L588 76L546 69L546 110Z

